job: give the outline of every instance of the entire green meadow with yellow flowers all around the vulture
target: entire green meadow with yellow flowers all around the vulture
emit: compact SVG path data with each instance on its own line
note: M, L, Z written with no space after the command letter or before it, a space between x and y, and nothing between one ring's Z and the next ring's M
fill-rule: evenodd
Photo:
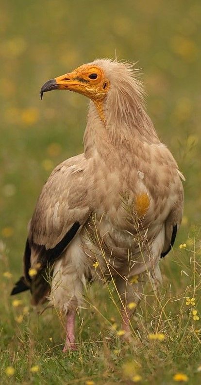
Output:
M136 375L142 384L173 384L178 372L189 384L201 381L201 320L192 313L201 311L200 17L196 0L1 5L2 384L132 384ZM10 291L21 274L27 223L43 183L59 162L82 152L87 100L54 92L41 102L38 93L47 79L96 57L114 57L115 49L119 58L139 59L146 74L149 114L186 177L184 220L174 250L161 261L163 286L156 294L149 285L136 311L131 342L117 335L121 320L113 285L95 285L77 318L78 351L63 354L56 311L38 315L28 293L14 307ZM185 304L187 297L195 298L195 306ZM150 340L152 333L165 338ZM9 366L15 369L10 376Z

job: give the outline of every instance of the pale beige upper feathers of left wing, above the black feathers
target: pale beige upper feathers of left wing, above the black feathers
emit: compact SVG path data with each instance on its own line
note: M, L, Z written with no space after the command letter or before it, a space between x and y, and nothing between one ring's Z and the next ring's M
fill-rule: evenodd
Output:
M65 160L52 171L31 219L31 246L53 249L75 224L84 224L90 211L86 168L87 161L81 154Z

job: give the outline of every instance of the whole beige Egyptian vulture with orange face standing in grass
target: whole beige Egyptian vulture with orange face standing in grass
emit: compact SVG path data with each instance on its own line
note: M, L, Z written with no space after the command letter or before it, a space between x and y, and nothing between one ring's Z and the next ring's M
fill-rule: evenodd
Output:
M76 348L76 308L87 281L113 278L129 330L129 304L140 300L146 275L160 280L160 258L173 246L184 177L145 111L133 65L81 65L48 80L41 99L58 89L90 99L84 153L62 162L45 183L12 295L30 289L34 305L48 299L65 314L67 351Z

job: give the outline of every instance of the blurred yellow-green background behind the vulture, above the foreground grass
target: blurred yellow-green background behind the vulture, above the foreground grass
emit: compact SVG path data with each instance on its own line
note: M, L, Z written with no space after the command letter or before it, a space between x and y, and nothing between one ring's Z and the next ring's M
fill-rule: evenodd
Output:
M27 223L51 170L81 153L88 100L48 79L95 58L138 61L159 137L186 177L184 242L201 221L201 1L0 2L0 239L18 275Z

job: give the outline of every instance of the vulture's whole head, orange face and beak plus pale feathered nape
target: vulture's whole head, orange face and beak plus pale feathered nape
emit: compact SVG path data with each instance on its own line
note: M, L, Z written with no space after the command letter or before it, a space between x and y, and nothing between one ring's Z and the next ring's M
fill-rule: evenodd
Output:
M133 124L143 111L144 91L136 79L138 74L134 64L97 59L48 80L41 88L40 97L42 99L44 92L51 90L74 91L95 103L104 123L112 118L113 123Z

